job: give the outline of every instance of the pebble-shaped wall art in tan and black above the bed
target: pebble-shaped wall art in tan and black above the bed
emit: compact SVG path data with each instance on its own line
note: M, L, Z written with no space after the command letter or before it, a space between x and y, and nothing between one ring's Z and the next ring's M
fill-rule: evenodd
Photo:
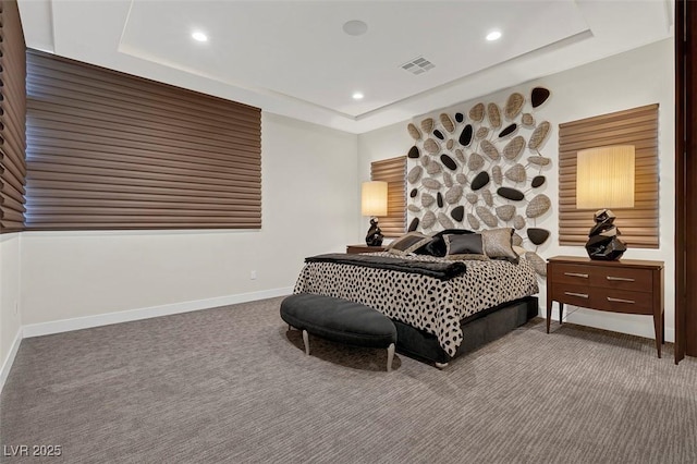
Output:
M527 99L512 93L503 105L481 101L409 123L408 230L514 228L514 244L534 249L526 258L545 276L536 252L550 232L536 221L552 207L543 193L552 160L541 152L552 125L536 112L550 95L535 87Z

